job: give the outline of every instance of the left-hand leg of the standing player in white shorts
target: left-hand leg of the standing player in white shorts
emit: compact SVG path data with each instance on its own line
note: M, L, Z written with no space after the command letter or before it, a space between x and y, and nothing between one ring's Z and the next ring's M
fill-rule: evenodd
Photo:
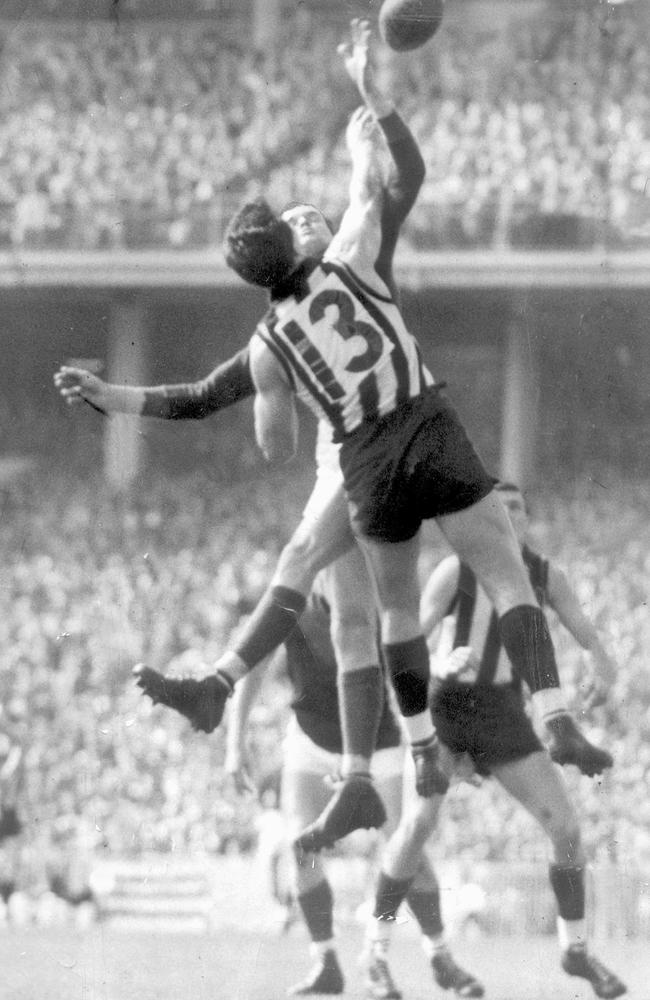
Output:
M291 840L322 812L330 797L325 777L339 766L336 754L317 747L291 721L284 745L282 811ZM334 900L319 854L294 853L294 891L310 937L314 965L294 996L342 993L344 980L334 940Z

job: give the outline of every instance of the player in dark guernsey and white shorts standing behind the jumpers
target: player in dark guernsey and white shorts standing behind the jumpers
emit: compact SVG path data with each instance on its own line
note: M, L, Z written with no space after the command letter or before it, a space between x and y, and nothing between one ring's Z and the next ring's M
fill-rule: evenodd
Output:
M300 624L285 640L284 660L291 684L293 716L283 745L281 797L290 839L297 837L326 807L330 793L325 779L337 774L341 767L338 671L330 640L330 607L332 600L339 602L346 596L355 600L360 587L367 589L368 579L361 552L355 547L318 575ZM251 787L247 722L267 664L268 661L258 666L237 685L228 713L225 766L240 791ZM390 835L397 826L402 806L404 749L385 685L383 695L372 773L386 806L384 832ZM345 984L336 951L334 898L326 866L320 854L305 855L299 850L294 853L294 861L296 898L309 931L315 964L306 980L290 993L293 996L342 993ZM424 853L409 886L407 901L424 940L435 943L436 981L446 988L453 987L460 996L482 996L481 984L456 964L443 944L438 883ZM374 967L373 971L376 974Z

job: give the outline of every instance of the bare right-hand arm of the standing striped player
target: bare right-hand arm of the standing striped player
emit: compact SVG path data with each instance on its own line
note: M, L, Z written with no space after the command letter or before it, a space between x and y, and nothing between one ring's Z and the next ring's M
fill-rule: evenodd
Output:
M547 593L548 602L564 627L591 657L592 670L581 683L585 706L594 708L604 704L616 681L616 667L593 622L583 612L566 574L557 566L549 565Z

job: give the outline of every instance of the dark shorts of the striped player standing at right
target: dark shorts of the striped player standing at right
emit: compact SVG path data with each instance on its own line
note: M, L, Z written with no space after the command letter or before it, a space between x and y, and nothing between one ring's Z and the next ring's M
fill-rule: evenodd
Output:
M431 714L439 739L453 753L468 753L479 774L544 749L521 694L509 684L443 681Z

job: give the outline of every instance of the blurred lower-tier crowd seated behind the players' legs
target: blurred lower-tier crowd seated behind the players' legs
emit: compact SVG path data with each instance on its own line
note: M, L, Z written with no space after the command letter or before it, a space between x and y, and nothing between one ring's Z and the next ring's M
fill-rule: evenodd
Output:
M308 492L309 474L296 475L292 489L269 478L219 488L207 476L142 482L131 500L55 473L26 473L5 486L5 899L22 890L84 902L89 871L104 857L254 847L258 807L238 799L224 776L223 733L193 734L174 713L153 708L138 696L130 671L139 660L176 672L199 672L214 661L261 593ZM614 476L605 485L535 498L536 538L568 567L620 670L607 706L581 716L613 751L614 770L593 781L567 772L588 851L647 869L647 495L641 484ZM556 635L580 712L580 656ZM279 684L253 716L260 780L279 763L287 718ZM457 786L444 816L439 857L543 857L532 822L491 782Z

